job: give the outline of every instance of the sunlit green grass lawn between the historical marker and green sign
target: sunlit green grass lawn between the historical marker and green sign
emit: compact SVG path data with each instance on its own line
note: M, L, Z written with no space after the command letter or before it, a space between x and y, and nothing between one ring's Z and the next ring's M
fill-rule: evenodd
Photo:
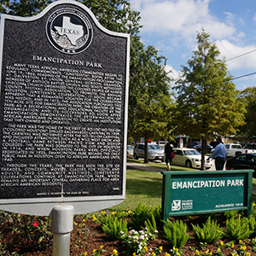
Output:
M143 160L127 160L128 162L143 164ZM149 162L149 166L155 166L166 170L162 163ZM172 171L198 171L180 166L172 166ZM253 187L256 187L256 178L253 178ZM139 170L127 170L126 172L126 196L125 201L115 207L108 208L110 211L132 210L139 203L157 206L161 204L162 175L158 172L145 172ZM252 195L252 201L256 202L256 195Z

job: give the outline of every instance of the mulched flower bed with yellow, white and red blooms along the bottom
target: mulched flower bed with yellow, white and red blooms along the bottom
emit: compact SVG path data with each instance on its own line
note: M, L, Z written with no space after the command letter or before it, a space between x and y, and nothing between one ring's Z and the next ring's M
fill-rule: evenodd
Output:
M254 206L253 206L254 207ZM149 211L149 212L148 212ZM71 256L133 256L133 255L256 255L256 241L254 227L251 224L251 234L243 239L230 239L223 236L218 241L211 243L203 242L195 236L193 232L193 225L207 223L209 216L186 216L178 218L179 222L185 224L188 228L188 241L183 247L173 247L172 242L166 239L166 235L160 228L154 230L154 221L151 217L147 217L150 221L148 230L143 227L145 219L143 216L151 216L154 212L157 216L158 211L148 210L148 207L137 207L134 212L100 212L95 215L79 215L74 218L74 229L71 236ZM254 218L253 211L253 218ZM229 215L230 214L230 215ZM238 212L212 214L211 219L214 219L219 226L227 232L226 219L243 218ZM240 216L240 217L239 217ZM113 218L114 217L114 218ZM110 229L108 236L102 231L103 224L109 226L109 223L117 223L117 219L127 221L128 232L120 232L119 225ZM112 221L114 219L114 221ZM177 220L172 218L171 221ZM0 235L0 255L28 255L28 256L45 256L52 255L52 234L50 232L50 218L39 218L26 216L22 214L14 214L7 212L0 212L1 221L1 235ZM151 224L151 227L150 227ZM157 218L155 224L160 225ZM233 224L234 225L234 224ZM244 229L245 224L236 227L237 230ZM110 225L111 226L111 225ZM125 224L122 228L125 227ZM154 232L150 229L153 228ZM117 229L117 231L112 231ZM150 231L149 231L150 230ZM107 231L106 231L107 232ZM117 240L109 238L109 233L119 234ZM244 233L244 232L243 232ZM234 235L234 234L233 234ZM118 235L119 236L119 235ZM137 238L134 238L136 237ZM139 242L136 244L136 242ZM133 244L134 242L134 244Z

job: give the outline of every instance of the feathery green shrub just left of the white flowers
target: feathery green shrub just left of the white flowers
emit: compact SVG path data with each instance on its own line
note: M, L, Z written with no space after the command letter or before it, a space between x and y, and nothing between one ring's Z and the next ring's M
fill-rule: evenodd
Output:
M102 224L102 230L108 238L112 240L119 240L122 233L127 233L127 221L122 218L113 216L108 219L108 222Z

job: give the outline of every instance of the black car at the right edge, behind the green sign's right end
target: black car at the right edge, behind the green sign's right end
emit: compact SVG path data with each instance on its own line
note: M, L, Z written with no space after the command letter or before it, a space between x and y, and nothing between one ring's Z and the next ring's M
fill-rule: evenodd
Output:
M253 169L256 171L256 154L239 154L227 160L226 170ZM253 172L253 177L256 173Z

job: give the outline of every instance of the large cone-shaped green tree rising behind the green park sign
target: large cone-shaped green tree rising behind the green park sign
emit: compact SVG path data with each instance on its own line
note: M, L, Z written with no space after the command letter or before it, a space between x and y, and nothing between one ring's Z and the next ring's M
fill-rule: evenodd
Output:
M237 100L236 85L231 82L219 50L209 41L209 34L197 34L197 49L183 67L177 81L175 131L190 137L201 137L201 169L205 168L206 140L218 135L236 133L244 124L244 104Z

